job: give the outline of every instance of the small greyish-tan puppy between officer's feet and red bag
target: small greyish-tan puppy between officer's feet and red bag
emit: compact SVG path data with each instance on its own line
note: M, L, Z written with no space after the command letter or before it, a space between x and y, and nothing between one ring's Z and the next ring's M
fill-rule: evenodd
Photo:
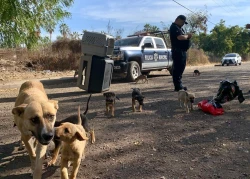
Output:
M193 93L188 93L187 91L179 91L178 92L178 100L180 102L180 107L182 104L186 108L186 113L189 113L188 104L190 103L191 110L193 110L195 95Z

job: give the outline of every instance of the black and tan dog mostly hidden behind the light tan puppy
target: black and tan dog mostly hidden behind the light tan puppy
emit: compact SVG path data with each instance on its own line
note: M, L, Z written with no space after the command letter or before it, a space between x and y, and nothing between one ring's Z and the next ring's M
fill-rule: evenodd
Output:
M94 134L94 129L90 129L89 125L88 125L88 118L87 118L87 113L88 113L88 109L89 109L89 101L91 98L92 94L89 95L88 101L87 101L87 106L86 106L86 110L83 114L80 114L80 118L81 118L81 125L83 126L84 130L86 131L86 133L89 133L90 135L90 139L91 139L91 143L93 144L95 142L95 134ZM80 110L80 109L79 109ZM79 115L79 114L78 114ZM59 127L60 125L62 125L65 122L68 123L72 123L72 124L78 124L79 122L79 116L77 114L72 115L67 117L66 119L63 119L61 121L56 121L54 127ZM62 142L60 140L56 140L56 138L53 139L53 142L55 144L55 149L53 150L53 154L52 154L52 159L48 162L48 166L53 166L56 163Z

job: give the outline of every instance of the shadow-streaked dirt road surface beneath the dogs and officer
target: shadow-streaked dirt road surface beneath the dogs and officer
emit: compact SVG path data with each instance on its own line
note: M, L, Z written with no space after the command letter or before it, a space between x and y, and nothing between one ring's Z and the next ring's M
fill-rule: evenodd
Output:
M88 117L95 128L96 143L86 147L78 178L160 179L160 178L250 178L250 63L241 66L188 67L184 85L196 94L195 104L212 99L219 82L237 80L246 100L223 105L225 114L212 116L195 110L186 114L179 107L168 72L155 72L148 84L113 80L110 90L116 102L114 118L104 115L101 93L93 94ZM59 100L58 120L82 111L88 93L75 87L72 77L42 80L50 98ZM0 178L27 179L30 162L25 150L18 151L20 134L13 128L11 109L21 82L0 86ZM131 87L141 88L143 112L131 110ZM53 148L51 144L50 148ZM44 169L44 178L60 178L60 160Z

